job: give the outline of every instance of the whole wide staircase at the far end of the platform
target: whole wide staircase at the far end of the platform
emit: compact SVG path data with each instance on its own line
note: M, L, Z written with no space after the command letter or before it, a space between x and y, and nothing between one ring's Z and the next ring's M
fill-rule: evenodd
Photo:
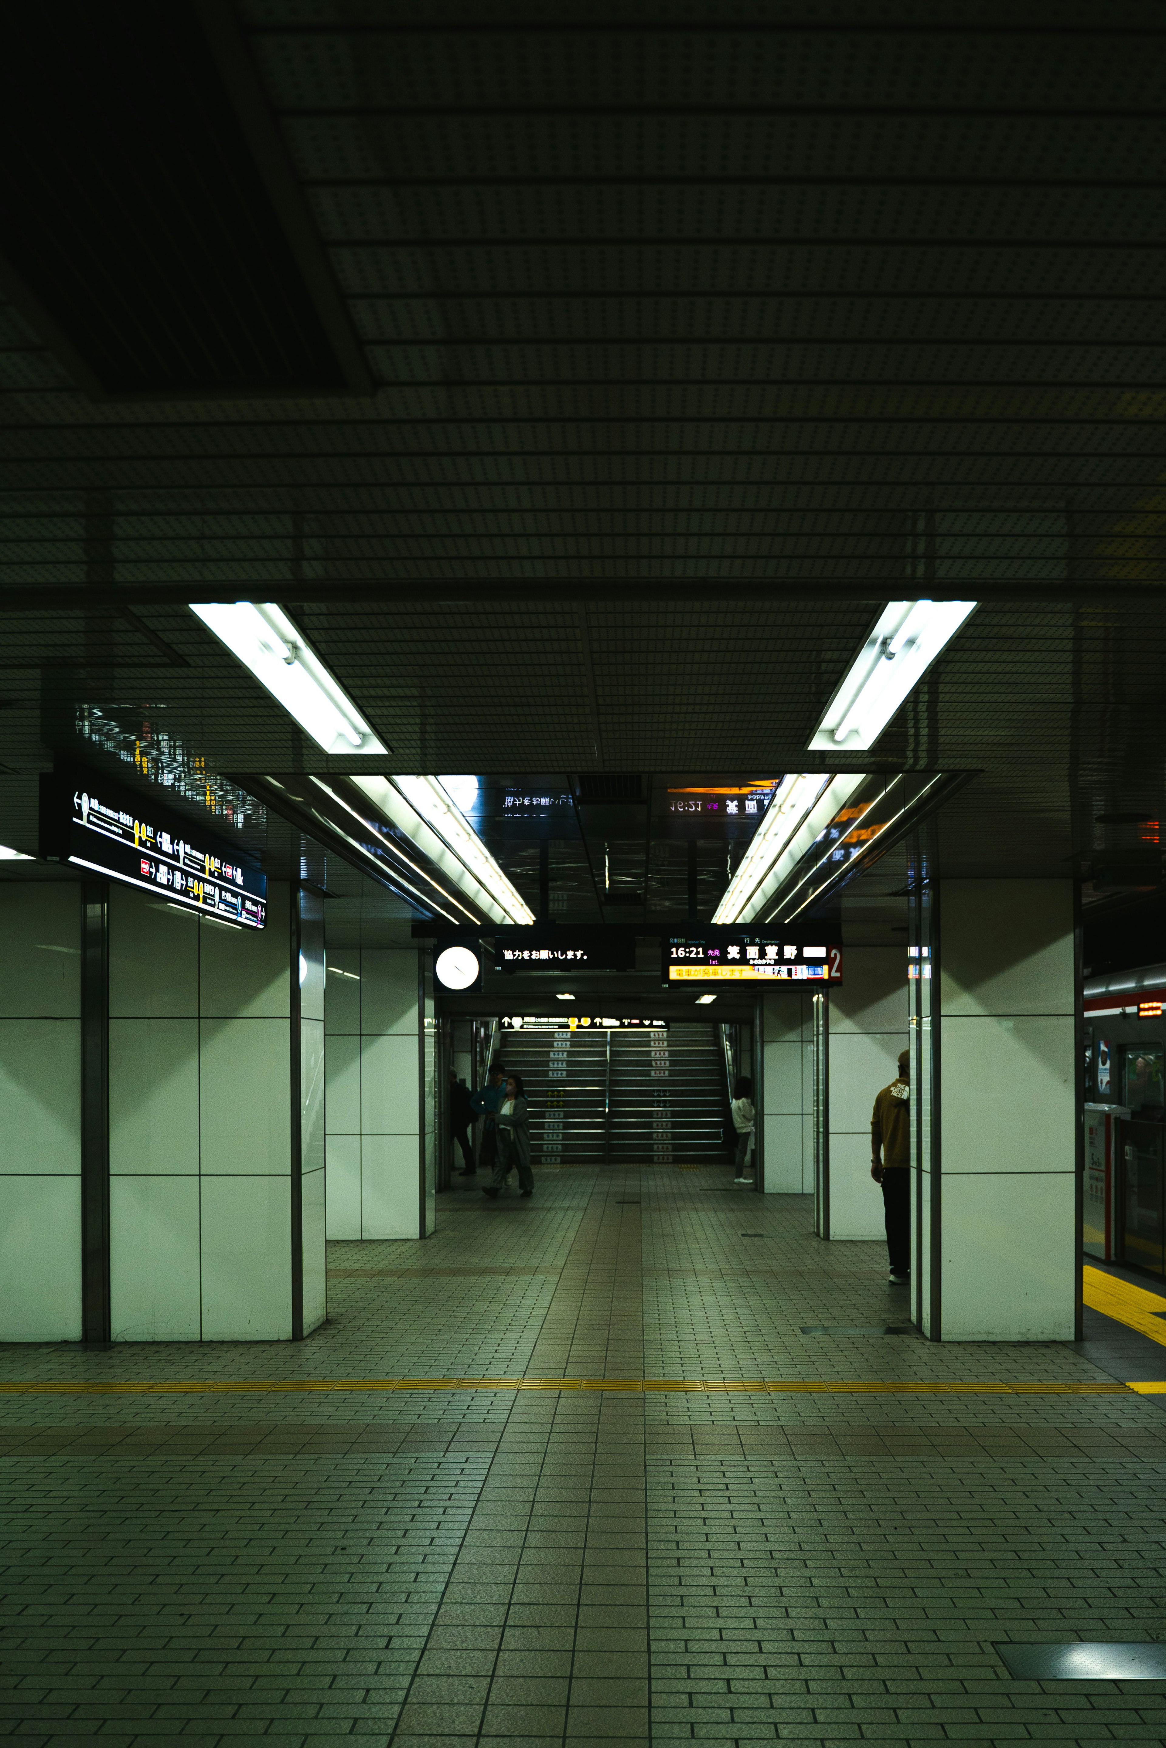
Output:
M732 1159L715 1026L509 1031L502 1056L526 1086L535 1166L715 1166Z

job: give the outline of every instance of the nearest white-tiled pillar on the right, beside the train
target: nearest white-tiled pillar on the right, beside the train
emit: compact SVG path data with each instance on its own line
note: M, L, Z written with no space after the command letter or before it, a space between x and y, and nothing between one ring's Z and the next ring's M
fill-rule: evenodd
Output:
M930 1112L913 1098L916 1147L932 1119L918 1164L920 1323L942 1341L1073 1341L1072 883L939 881L927 933L920 1031L935 1092Z

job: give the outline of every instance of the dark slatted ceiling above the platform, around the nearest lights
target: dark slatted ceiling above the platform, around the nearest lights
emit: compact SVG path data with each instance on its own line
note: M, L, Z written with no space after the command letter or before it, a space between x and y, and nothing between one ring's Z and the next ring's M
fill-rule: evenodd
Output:
M947 872L1161 881L1096 823L1166 816L1159 5L241 0L241 61L199 16L182 79L182 5L5 21L54 52L23 91L3 58L0 253L122 385L164 358L206 399L94 404L0 308L0 764L100 710L208 769L343 771L184 607L276 600L399 771L642 774L577 790L619 818L552 834L561 897L675 914L647 773L804 767L881 603L954 594L848 762L977 773ZM341 329L378 392L276 399L355 381ZM537 888L535 837L505 855ZM727 864L698 841L703 914Z

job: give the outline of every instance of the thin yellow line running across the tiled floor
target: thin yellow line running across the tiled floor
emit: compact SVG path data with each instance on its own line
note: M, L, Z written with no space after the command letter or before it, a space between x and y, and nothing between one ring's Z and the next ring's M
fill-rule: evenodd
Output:
M1166 1393L1166 1383L942 1383L923 1379L825 1379L825 1377L246 1377L246 1379L19 1379L0 1381L7 1397L149 1397L149 1395L262 1395L306 1391L444 1391L444 1390L603 1390L663 1395L949 1395L949 1397L1110 1397L1124 1390L1138 1395Z

